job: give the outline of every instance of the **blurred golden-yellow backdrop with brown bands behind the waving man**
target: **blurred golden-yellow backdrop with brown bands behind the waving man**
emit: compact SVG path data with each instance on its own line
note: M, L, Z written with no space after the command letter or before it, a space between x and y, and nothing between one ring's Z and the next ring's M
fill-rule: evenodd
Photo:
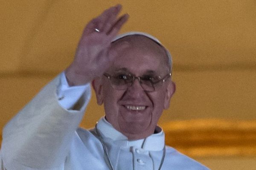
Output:
M1 0L0 130L70 64L86 23L117 3L130 14L122 33L145 31L172 54L166 143L212 170L256 170L255 0ZM93 94L81 126L103 115Z

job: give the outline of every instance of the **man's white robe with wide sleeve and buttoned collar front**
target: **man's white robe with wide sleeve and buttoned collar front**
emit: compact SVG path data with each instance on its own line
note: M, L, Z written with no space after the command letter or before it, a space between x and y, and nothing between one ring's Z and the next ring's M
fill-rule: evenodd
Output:
M109 170L95 130L78 128L90 100L90 86L74 110L58 102L56 77L4 128L0 151L3 170ZM115 170L157 170L163 156L164 133L128 141L105 119L97 125ZM162 170L207 170L166 146Z

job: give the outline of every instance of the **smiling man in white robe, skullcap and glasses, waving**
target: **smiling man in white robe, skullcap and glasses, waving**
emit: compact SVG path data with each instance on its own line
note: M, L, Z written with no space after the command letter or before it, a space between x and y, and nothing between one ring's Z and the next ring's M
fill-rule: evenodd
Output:
M175 92L169 52L145 33L116 34L117 5L90 21L72 64L50 82L3 131L4 170L205 170L166 147L157 126ZM90 82L105 117L77 128Z

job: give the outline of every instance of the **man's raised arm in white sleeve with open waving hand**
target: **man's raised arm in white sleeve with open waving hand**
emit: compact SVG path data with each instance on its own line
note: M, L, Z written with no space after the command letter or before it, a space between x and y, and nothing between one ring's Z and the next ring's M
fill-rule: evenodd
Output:
M66 69L71 86L101 77L112 65L118 53L111 50L111 41L128 20L128 14L118 17L121 8L116 5L105 10L84 28L74 60ZM121 45L119 50L126 47ZM7 170L63 169L74 131L90 98L90 85L79 102L67 106L69 101L64 104L65 97L56 93L58 83L58 78L50 82L4 128L0 157Z

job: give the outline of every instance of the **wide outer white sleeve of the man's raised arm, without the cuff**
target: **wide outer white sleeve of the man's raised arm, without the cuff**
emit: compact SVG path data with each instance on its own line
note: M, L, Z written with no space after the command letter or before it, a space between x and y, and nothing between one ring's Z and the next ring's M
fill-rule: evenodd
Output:
M7 170L63 170L72 138L90 100L85 87L73 110L56 94L60 76L46 85L3 130L1 166ZM70 106L68 106L70 107Z

